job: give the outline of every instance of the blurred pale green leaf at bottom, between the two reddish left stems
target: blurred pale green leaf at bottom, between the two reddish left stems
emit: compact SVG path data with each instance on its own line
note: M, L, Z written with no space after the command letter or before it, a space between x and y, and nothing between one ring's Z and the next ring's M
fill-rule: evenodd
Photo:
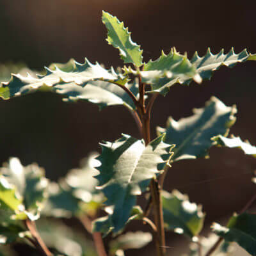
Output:
M65 225L60 220L39 220L36 226L48 248L58 251L60 255L96 256L92 242L81 232Z

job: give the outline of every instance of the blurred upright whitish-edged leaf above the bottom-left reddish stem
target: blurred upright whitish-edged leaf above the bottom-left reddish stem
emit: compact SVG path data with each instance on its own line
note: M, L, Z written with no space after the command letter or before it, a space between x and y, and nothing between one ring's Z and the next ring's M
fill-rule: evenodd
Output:
M23 209L15 218L37 220L47 198L48 180L44 170L37 164L22 166L18 158L12 157L0 173L17 188Z

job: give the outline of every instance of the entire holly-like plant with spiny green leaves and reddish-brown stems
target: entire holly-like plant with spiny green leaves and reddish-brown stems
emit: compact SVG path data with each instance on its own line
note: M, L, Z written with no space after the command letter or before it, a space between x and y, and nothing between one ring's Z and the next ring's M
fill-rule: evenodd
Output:
M173 47L168 53L161 52L157 60L143 62L143 51L132 41L123 22L107 12L102 13L102 22L108 29L108 44L118 49L124 67L108 70L87 59L84 63L70 60L52 64L40 75L28 72L12 74L8 82L3 79L0 97L7 100L47 88L61 94L64 101L84 100L99 109L122 105L132 113L141 138L122 134L116 141L101 142L100 154L90 154L59 182L46 179L44 169L37 164L23 166L15 157L4 163L0 169L1 255L12 255L13 250L3 244L23 241L33 247L35 255L119 256L129 248L145 246L154 237L156 255L163 256L168 246L166 231L191 241L187 255L230 255L234 242L256 255L256 215L248 212L256 196L231 216L225 227L214 223L213 233L203 237L202 207L189 202L180 191L164 190L171 164L207 157L212 146L239 147L245 154L256 156L256 147L250 143L239 137L228 138L236 121L236 107L211 97L189 117L177 121L168 117L166 127L157 127L156 138L150 134L154 102L171 86L202 83L221 66L233 67L256 60L256 56L246 49L239 54L233 49L212 54L208 49L205 56L195 52L189 60ZM148 195L145 209L136 203L141 195ZM71 217L92 234L94 245L62 222ZM132 221L149 225L152 232L124 233ZM106 236L109 243L105 247L102 237Z

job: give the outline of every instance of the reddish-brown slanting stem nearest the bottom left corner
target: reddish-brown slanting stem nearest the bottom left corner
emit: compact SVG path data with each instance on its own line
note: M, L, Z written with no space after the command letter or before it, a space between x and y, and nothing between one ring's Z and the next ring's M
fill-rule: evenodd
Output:
M29 219L25 220L24 222L25 222L25 225L28 228L28 230L31 232L31 235L33 236L33 242L31 241L31 243L33 243L36 246L36 248L38 249L38 251L40 251L40 253L42 255L52 256L52 253L49 251L49 249L45 245L44 241L40 237L40 235L36 229L35 222L31 221Z

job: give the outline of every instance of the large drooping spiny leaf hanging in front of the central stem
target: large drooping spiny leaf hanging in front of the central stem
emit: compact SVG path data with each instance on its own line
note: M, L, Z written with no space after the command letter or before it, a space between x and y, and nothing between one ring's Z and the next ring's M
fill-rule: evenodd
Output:
M114 232L122 229L128 220L132 206L136 203L136 195L140 195L148 187L152 178L170 159L172 146L163 143L164 135L145 146L142 140L128 135L114 143L102 145L102 154L97 157L101 166L99 189L108 198L106 205L113 207L111 222Z

